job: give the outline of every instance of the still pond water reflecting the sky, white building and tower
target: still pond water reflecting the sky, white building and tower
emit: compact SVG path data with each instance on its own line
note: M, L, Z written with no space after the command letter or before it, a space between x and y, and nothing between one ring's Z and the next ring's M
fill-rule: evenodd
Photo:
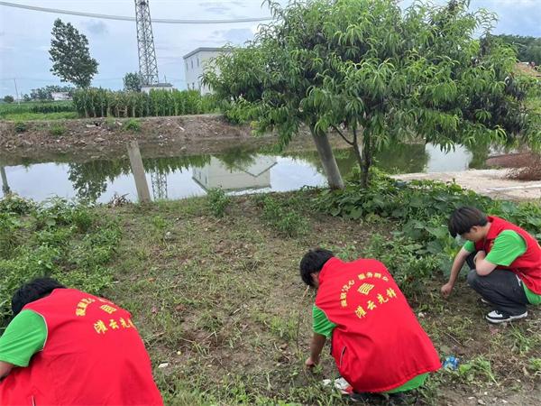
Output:
M477 156L477 158L476 158ZM356 164L353 152L335 151L343 176ZM479 166L486 152L472 153L459 146L441 152L431 144L392 145L376 156L376 166L392 173L464 171ZM231 194L288 191L304 186L325 186L326 177L315 151L280 155L233 149L214 155L167 158L142 156L144 178L151 198L188 198L212 188ZM8 190L37 201L53 196L111 201L115 195L138 198L127 154L115 160L25 163L0 167L3 192Z

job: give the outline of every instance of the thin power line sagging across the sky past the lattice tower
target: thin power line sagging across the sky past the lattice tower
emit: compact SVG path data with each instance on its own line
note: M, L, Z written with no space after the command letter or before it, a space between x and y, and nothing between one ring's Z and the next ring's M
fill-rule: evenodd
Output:
M102 18L105 20L119 20L119 21L135 21L135 17L128 17L125 15L111 15L111 14L95 14L95 13L82 13L70 10L60 10L57 8L47 7L35 7L33 5L16 5L14 3L0 2L0 5L5 7L23 8L24 10L39 11L42 13L53 14L69 14L79 15L83 17ZM227 23L257 23L261 21L269 21L271 17L247 17L247 18L235 18L232 20L176 20L170 18L153 18L152 23L161 24L227 24Z

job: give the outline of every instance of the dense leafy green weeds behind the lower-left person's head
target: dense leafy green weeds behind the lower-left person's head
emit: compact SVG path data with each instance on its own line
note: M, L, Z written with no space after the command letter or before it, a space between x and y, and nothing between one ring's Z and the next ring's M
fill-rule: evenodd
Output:
M120 236L114 220L64 199L41 205L16 197L0 200L0 324L9 318L14 291L35 277L103 292L113 281L105 265Z

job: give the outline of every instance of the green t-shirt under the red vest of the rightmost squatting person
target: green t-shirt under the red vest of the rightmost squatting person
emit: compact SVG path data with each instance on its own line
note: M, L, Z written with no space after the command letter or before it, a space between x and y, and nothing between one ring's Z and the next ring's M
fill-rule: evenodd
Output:
M468 253L475 251L475 244L472 241L467 241L463 245L463 249ZM491 252L487 254L485 260L496 265L509 266L520 255L526 253L526 241L516 231L503 230L495 239L492 245ZM531 304L540 304L541 295L536 295L533 291L527 289L527 286L522 283L524 292L526 293L527 301Z

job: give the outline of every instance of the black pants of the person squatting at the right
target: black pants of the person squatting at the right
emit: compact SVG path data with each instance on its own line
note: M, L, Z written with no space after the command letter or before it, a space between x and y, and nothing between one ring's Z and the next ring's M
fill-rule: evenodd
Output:
M511 316L518 316L526 311L527 296L518 276L506 269L495 269L486 276L480 276L475 271L473 257L468 256L466 262L470 266L468 284L485 300L489 300L494 309Z

